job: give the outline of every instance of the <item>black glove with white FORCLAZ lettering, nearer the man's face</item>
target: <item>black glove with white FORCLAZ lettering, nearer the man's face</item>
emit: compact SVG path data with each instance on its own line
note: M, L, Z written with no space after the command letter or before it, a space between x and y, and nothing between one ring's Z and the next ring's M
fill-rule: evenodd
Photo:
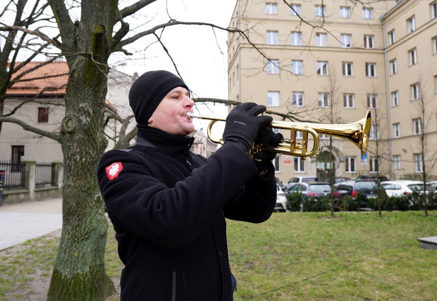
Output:
M268 115L257 116L265 110L265 106L255 103L235 106L226 117L225 131L223 132L224 144L234 143L247 152L252 147L260 128L273 121L273 118Z

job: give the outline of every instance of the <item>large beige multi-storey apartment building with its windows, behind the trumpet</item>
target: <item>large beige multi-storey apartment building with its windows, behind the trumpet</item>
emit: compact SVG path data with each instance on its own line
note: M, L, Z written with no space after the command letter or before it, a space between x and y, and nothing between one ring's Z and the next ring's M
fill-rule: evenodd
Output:
M370 110L372 125L366 156L320 135L315 158L277 155L277 177L435 176L437 1L288 3L237 0L229 28L245 36L228 35L229 99L308 124L354 124Z

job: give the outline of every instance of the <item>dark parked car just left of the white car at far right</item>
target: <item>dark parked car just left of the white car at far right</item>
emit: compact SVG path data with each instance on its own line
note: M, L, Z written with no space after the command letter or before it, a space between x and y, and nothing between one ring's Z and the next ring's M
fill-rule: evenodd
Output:
M368 200L378 197L378 188L373 180L347 180L334 184L335 191L332 193L336 200L350 196L353 199L361 196L360 206L366 208Z

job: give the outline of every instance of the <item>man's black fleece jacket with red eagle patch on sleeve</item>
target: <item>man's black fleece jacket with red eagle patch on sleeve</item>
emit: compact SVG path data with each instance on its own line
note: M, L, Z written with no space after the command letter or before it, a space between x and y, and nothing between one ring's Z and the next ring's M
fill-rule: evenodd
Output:
M208 159L194 138L140 128L97 176L125 268L122 300L232 300L225 217L261 223L276 202L273 165L257 175L239 147Z

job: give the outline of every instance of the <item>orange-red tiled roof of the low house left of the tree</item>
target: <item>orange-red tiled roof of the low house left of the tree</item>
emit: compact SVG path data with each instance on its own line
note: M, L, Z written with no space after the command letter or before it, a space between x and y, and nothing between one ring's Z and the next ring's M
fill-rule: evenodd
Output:
M30 62L17 73L21 74L43 63L44 62ZM19 63L15 66L18 64ZM12 80L18 74L12 75ZM27 79L28 81L15 83L6 91L6 95L36 95L43 90L42 95L64 95L68 81L67 62L54 62L41 66L36 70L25 74L20 80L22 81L24 79Z

